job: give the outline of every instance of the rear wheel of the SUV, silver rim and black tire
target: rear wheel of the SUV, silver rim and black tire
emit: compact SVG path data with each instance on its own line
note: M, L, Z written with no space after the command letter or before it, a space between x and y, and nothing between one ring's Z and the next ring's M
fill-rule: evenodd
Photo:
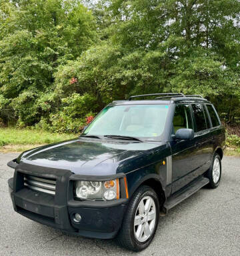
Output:
M217 153L213 155L213 161L207 171L207 177L209 178L209 187L211 189L219 186L221 180L221 157Z

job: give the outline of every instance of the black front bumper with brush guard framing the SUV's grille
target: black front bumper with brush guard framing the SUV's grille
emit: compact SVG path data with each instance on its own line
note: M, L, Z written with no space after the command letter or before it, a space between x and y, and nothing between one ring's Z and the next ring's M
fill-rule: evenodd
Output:
M23 175L55 177L55 196L35 192L24 186ZM71 172L34 165L19 164L14 177L9 179L9 193L17 213L43 225L61 229L66 233L101 239L117 235L128 199L117 201L75 201ZM76 175L73 175L76 179ZM73 180L74 180L73 179ZM75 223L74 214L81 215Z

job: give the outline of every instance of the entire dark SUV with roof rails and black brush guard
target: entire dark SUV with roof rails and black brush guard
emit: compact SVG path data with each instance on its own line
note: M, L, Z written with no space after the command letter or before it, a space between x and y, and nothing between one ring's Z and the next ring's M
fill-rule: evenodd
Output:
M29 219L141 251L160 214L219 185L224 148L225 130L203 97L137 95L107 105L80 137L9 162L9 191Z

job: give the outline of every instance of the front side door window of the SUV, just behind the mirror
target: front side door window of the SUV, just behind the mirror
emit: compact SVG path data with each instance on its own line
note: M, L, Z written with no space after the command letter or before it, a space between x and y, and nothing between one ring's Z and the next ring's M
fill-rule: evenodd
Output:
M182 128L193 129L189 105L176 105L175 115L173 117L173 128L175 133L178 129Z

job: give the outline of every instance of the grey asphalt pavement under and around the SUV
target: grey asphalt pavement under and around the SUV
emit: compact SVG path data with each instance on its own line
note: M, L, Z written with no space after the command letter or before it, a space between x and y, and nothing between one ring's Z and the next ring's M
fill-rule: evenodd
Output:
M0 154L0 255L240 255L240 158L224 157L221 184L203 188L161 217L155 239L141 253L115 240L65 235L13 211L6 166L16 154Z

